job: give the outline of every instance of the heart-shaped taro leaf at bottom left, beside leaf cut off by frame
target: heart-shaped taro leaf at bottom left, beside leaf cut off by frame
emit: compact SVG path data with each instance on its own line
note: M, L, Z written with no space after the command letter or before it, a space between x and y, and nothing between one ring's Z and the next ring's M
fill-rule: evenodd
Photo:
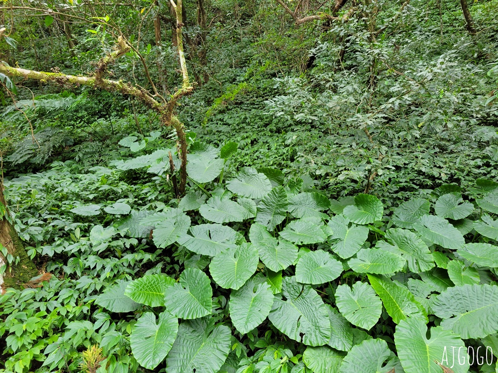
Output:
M143 313L133 327L130 339L131 352L138 364L154 369L173 346L178 333L178 320L168 311L156 317L152 312Z

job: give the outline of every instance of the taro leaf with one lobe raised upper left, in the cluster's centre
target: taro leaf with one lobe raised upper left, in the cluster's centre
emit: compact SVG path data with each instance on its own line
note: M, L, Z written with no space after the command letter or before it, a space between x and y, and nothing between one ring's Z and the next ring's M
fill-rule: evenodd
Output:
M261 224L251 225L249 239L256 248L261 262L274 272L285 270L297 259L295 245L283 239L277 241Z

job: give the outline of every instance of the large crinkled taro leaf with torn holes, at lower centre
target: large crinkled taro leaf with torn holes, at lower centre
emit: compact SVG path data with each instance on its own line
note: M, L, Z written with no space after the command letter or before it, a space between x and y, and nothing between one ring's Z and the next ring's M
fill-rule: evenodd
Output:
M295 277L285 277L283 297L275 296L268 319L289 338L308 346L322 346L330 340L330 320L322 298ZM285 300L284 300L285 299Z

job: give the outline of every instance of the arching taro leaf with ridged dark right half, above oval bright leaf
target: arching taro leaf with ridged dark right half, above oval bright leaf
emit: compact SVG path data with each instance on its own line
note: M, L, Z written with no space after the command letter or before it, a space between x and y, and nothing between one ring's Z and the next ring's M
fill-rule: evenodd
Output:
M429 248L415 233L407 229L391 228L386 231L385 238L392 245L379 240L375 247L401 255L408 262L411 272L425 272L434 267L434 258Z

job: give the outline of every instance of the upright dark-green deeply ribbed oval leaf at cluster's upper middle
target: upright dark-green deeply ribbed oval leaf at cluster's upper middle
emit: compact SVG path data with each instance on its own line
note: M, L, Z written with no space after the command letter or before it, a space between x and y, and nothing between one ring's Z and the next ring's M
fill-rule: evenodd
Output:
M287 206L284 187L274 187L257 205L255 221L272 231L287 216Z

